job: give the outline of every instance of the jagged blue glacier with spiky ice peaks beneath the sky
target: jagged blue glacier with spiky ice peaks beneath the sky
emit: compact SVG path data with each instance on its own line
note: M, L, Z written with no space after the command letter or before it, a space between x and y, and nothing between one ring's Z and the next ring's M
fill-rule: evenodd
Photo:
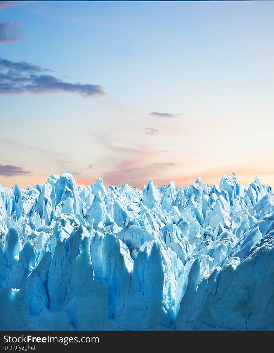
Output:
M0 186L0 330L274 330L274 193Z

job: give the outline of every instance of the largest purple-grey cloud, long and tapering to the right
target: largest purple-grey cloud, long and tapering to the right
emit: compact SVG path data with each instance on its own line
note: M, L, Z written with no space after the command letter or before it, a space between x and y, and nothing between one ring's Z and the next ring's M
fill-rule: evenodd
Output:
M52 71L25 61L0 59L0 94L73 92L84 97L105 95L102 86L68 83L44 71Z

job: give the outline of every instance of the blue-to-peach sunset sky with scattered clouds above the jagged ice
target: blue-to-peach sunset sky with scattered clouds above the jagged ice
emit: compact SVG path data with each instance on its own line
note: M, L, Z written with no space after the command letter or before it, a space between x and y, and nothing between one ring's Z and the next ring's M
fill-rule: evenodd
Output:
M273 11L0 1L0 184L274 186Z

